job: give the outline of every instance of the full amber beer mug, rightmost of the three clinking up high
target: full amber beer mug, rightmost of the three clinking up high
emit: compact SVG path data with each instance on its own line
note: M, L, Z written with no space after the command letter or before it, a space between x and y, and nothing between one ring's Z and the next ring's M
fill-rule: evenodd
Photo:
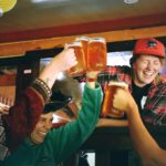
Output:
M106 41L104 38L91 38L87 48L87 71L106 69Z

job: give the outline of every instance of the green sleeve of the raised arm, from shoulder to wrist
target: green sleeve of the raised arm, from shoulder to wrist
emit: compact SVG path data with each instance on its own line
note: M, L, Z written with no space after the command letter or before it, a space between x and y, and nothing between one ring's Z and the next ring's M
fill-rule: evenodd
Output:
M102 92L100 84L95 89L85 85L82 108L77 120L65 126L54 128L51 134L55 160L60 163L74 153L92 134L101 111ZM56 164L58 164L56 163Z

